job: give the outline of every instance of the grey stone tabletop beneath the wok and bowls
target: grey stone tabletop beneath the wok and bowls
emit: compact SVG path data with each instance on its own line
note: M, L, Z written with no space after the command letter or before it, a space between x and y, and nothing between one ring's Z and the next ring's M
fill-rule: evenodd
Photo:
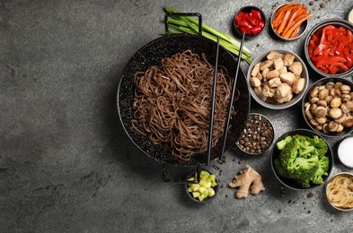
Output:
M282 194L269 151L228 151L216 199L190 203L182 186L161 181L162 164L139 151L119 123L121 73L138 48L160 37L164 5L199 12L232 35L241 6L258 5L269 18L286 2L0 1L0 232L351 232L353 211L331 208L323 186ZM315 0L308 27L344 18L352 5ZM278 41L268 27L245 46L253 56L278 47L303 55L304 38ZM306 127L299 105L271 111L252 100L251 111L270 118L276 137ZM335 162L333 174L352 171ZM266 190L238 200L227 184L246 164Z

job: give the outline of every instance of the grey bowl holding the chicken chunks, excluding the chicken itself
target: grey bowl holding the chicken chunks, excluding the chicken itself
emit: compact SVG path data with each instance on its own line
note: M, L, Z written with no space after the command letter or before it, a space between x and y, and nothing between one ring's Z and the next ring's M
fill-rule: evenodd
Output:
M305 79L305 84L304 84L304 89L303 91L299 92L298 94L294 94L293 99L291 99L289 102L286 103L282 103L282 104L272 104L269 102L266 102L262 99L260 99L260 97L255 93L254 88L252 87L252 85L250 84L250 78L252 77L252 68L260 63L263 62L265 60L267 60L266 56L268 56L270 51L276 51L278 53L282 53L282 54L292 54L293 56L295 56L295 62L300 62L303 66L303 72L301 74L301 77ZM304 93L308 87L308 83L309 83L309 73L306 69L306 65L304 64L304 61L302 60L302 58L300 58L300 56L297 56L295 53L290 52L288 50L285 49L269 49L266 50L264 52L262 52L259 56L257 56L253 61L252 64L249 66L249 70L247 73L247 79L246 82L248 82L248 85L250 87L250 93L252 95L252 98L255 99L256 102L258 102L261 106L265 107L265 108L270 108L270 109L285 109L285 108L290 108L292 106L294 106L297 102L300 101L300 99L302 99L304 97Z

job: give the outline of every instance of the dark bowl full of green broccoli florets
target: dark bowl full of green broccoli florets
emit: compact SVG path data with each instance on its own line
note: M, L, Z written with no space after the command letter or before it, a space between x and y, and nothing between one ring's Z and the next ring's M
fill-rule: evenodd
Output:
M271 151L271 168L284 186L307 190L322 186L333 166L330 145L307 129L296 129L281 135Z

